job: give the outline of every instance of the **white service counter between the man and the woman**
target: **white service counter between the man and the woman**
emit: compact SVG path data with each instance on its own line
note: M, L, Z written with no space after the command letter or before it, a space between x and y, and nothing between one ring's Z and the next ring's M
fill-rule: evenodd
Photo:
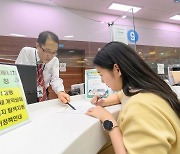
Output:
M71 97L72 102L84 96ZM107 107L117 117L120 105ZM0 136L1 154L96 154L108 140L98 119L60 113L57 99L28 105L31 122Z

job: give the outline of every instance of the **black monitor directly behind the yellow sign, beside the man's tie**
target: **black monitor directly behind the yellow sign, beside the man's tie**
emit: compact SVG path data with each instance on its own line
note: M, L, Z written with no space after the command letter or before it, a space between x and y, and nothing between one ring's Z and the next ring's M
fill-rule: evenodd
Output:
M36 66L22 64L6 64L15 65L19 72L24 93L28 104L37 102L37 79Z

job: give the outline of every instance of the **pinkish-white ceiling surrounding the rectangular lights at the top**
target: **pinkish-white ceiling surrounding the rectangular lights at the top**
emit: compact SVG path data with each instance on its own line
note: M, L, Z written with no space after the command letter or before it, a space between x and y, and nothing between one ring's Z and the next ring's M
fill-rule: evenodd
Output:
M122 16L124 12L108 10L112 2L142 7L134 14L135 18L180 24L178 20L170 17L180 15L180 2L174 0L23 0L40 4L58 5L65 8L99 12Z

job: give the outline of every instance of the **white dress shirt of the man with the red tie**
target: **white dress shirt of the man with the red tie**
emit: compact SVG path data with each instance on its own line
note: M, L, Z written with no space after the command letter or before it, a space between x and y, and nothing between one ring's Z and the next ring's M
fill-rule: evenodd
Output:
M24 47L20 51L15 63L37 66L38 61L40 61L40 58L37 49ZM51 85L56 94L59 91L64 91L63 80L59 78L59 59L57 57L54 57L51 61L45 64L43 75L46 88Z

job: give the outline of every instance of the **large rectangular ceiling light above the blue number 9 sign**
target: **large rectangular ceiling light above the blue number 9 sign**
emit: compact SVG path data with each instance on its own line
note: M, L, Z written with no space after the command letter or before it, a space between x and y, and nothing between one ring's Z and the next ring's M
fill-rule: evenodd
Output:
M130 5L123 5L123 4L118 4L118 3L112 3L108 9L111 10L119 10L119 11L129 11L130 9L133 9L133 13L136 13L139 11L141 8L140 7L135 7L135 6L130 6Z

